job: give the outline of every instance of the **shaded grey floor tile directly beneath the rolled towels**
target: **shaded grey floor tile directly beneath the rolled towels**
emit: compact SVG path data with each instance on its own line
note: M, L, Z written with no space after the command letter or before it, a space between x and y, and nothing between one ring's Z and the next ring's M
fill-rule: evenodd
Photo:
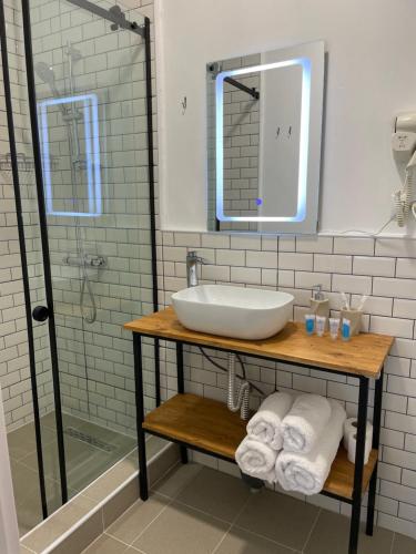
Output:
M263 490L251 496L236 525L291 548L302 550L318 512L316 506Z

